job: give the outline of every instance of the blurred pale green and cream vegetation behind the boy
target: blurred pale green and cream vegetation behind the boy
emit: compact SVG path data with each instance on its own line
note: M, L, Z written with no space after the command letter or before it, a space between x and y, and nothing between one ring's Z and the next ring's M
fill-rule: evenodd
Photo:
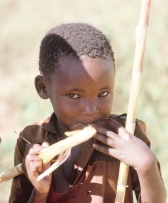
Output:
M14 131L19 133L26 124L52 112L49 101L38 98L34 76L40 41L55 25L80 21L104 32L116 58L113 112L127 111L140 6L141 1L134 0L1 0L0 173L13 166ZM152 151L168 188L167 19L167 1L152 1L137 117L147 123ZM11 181L0 184L0 203L8 201L10 185Z

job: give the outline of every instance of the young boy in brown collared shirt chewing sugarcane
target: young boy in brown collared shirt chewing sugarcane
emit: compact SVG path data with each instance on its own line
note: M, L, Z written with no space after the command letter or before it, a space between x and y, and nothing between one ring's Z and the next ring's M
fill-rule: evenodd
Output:
M112 203L121 160L130 166L125 203L133 202L132 190L139 202L165 203L145 124L137 120L133 136L123 127L126 115L110 114L115 65L106 37L87 24L57 26L41 42L39 70L36 90L50 99L54 113L20 133L38 144L26 147L21 137L17 140L15 165L24 162L25 174L14 178L9 202ZM43 167L40 150L64 139L65 131L88 124L97 130L94 138L74 147L63 165L37 182L39 172L49 167Z

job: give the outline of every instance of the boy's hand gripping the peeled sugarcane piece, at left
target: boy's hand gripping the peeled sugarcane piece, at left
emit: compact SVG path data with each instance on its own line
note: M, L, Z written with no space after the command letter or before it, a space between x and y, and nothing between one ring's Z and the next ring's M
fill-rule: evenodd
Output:
M25 161L23 164L23 170L27 173L27 177L34 186L34 195L40 198L45 198L48 195L52 175L44 177L42 180L37 181L38 175L50 167L50 163L43 165L42 160L39 158L39 152L48 147L49 144L44 142L42 145L30 144L26 147Z

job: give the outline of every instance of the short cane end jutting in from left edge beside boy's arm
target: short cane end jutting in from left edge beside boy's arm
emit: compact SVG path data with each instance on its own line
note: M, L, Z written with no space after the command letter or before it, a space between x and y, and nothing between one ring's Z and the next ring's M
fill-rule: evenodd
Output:
M0 175L0 183L3 183L5 181L8 181L12 178L14 178L15 176L18 176L20 174L24 173L22 170L22 163L18 164L17 166L6 170L5 172L1 173Z

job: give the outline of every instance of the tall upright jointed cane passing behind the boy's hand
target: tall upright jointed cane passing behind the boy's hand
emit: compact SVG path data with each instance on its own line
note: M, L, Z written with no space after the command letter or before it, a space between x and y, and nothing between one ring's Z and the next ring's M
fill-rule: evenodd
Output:
M140 20L136 29L136 48L132 73L132 83L130 90L130 98L128 103L128 112L126 119L126 130L131 134L134 134L136 109L138 103L138 96L140 91L142 64L144 58L144 50L146 43L147 26L149 19L151 0L142 0ZM129 166L125 163L120 163L117 193L115 203L124 203L125 192L127 187Z

